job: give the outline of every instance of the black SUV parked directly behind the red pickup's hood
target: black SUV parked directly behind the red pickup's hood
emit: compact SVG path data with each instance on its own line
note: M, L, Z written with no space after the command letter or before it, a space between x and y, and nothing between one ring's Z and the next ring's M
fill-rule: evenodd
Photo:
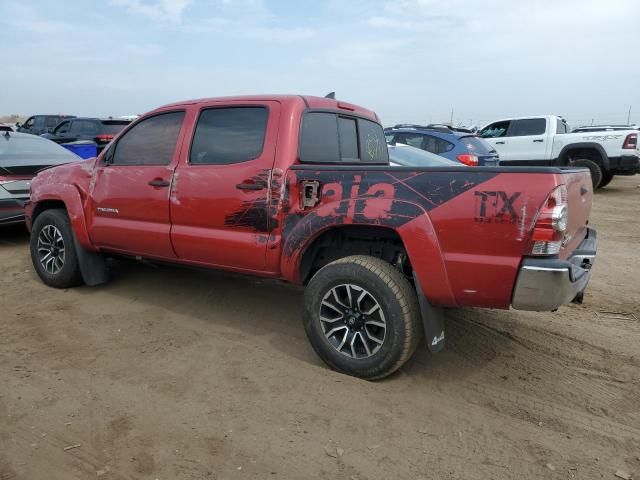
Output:
M50 133L44 133L42 136L56 143L90 140L96 143L99 153L130 123L131 120L73 118L60 122Z

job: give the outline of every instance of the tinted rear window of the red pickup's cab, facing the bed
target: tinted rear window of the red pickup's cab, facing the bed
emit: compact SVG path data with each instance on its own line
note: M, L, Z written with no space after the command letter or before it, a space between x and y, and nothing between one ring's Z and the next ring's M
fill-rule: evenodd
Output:
M378 123L333 112L303 116L298 158L303 163L389 163Z

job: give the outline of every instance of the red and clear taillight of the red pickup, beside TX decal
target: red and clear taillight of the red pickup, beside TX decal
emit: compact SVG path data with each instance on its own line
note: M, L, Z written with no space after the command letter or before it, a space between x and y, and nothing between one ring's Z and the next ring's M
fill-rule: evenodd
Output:
M567 187L560 185L553 190L538 212L531 235L531 255L557 255L567 231L569 209Z

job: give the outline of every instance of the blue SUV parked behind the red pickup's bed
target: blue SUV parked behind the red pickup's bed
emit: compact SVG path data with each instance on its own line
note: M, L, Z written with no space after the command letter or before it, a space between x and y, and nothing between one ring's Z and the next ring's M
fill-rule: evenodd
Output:
M473 132L447 125L396 125L385 128L387 143L403 143L472 167L496 167L498 152Z

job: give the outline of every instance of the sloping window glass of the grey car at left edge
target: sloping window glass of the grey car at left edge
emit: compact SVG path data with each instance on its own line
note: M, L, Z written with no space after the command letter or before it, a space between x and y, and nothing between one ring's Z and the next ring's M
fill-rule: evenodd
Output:
M27 134L0 135L0 166L58 165L80 160L57 143Z

